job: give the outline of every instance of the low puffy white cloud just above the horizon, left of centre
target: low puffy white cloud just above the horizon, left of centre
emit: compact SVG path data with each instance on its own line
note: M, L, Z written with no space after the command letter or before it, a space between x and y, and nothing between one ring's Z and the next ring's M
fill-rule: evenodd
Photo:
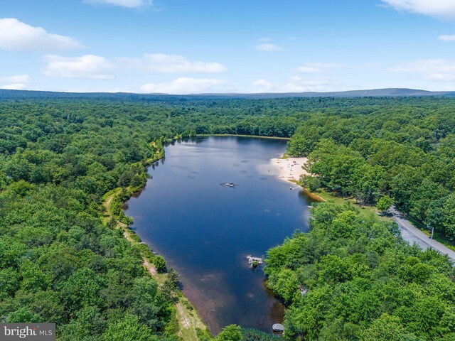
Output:
M200 94L203 92L219 92L217 86L225 83L224 80L180 77L172 82L144 84L141 86L141 91L164 94Z

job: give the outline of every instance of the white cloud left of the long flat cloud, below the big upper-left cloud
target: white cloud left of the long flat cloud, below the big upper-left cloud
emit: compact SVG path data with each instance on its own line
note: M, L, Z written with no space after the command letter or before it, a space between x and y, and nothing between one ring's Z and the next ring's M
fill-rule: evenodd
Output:
M81 57L63 57L61 55L45 55L47 65L43 73L51 77L89 78L109 80L114 78L112 70L116 67L110 60L97 55Z

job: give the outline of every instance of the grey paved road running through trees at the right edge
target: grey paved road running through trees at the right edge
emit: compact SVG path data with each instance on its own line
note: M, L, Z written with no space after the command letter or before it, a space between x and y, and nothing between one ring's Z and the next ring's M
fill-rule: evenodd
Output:
M430 247L430 238L427 236L427 234L424 234L424 232L417 229L417 227L414 227L414 225L411 224L409 220L406 220L405 217L403 217L401 212L398 212L393 206L388 212L393 215L395 221L398 223L403 239L405 239L407 242L410 242L410 244L417 243L419 247L422 247L424 250ZM449 256L451 261L455 263L455 251L452 251L434 239L432 242L432 248L439 251L441 254L446 254Z

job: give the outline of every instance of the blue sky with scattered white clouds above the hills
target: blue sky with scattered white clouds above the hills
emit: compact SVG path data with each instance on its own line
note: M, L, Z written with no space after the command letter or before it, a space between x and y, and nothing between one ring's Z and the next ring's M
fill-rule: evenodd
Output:
M455 0L1 0L0 88L455 90Z

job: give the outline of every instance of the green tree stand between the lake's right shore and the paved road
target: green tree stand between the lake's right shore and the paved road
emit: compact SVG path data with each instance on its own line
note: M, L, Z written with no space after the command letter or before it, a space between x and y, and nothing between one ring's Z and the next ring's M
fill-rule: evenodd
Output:
M270 249L269 286L287 303L285 340L455 340L452 264L403 242L395 223L326 202L311 232Z

